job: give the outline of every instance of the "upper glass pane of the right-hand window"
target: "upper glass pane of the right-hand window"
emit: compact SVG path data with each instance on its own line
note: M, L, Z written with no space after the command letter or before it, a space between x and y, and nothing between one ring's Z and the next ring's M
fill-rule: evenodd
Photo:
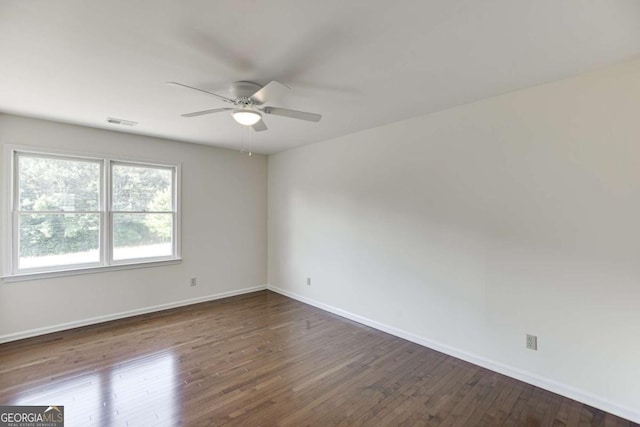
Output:
M114 211L172 211L173 170L113 165Z

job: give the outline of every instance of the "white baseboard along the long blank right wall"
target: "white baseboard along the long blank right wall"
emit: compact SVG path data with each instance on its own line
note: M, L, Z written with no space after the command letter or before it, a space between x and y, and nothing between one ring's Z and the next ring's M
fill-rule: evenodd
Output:
M281 295L287 296L289 298L293 298L305 304L309 304L314 307L320 308L322 310L328 311L329 313L337 314L338 316L347 318L349 320L353 320L355 322L361 323L366 326L370 326L379 331L386 332L393 336L406 339L407 341L414 342L423 347L427 347L427 348L439 351L441 353L448 354L449 356L462 359L466 362L473 363L474 365L490 369L494 372L498 372L508 377L515 378L517 380L526 382L536 387L543 388L545 390L568 397L570 399L577 400L578 402L582 402L589 406L593 406L594 408L601 409L603 411L612 413L619 417L626 418L627 420L640 423L640 412L638 412L638 410L633 410L631 408L621 406L619 404L616 404L614 402L611 402L607 399L604 399L600 396L596 396L589 392L579 390L575 387L571 387L566 384L561 384L549 378L544 378L537 374L533 374L531 372L527 372L513 366L505 365L500 362L495 362L495 361L477 356L475 354L468 353L466 351L448 346L446 344L442 344L440 342L433 341L428 338L424 338L424 337L412 334L411 332L403 331L401 329L397 329L392 326L385 325L384 323L380 323L375 320L368 319L366 317L342 310L337 307L333 307L331 305L313 300L311 298L296 294L294 292L287 291L286 289L282 289L277 286L267 285L267 289L273 292L277 292Z

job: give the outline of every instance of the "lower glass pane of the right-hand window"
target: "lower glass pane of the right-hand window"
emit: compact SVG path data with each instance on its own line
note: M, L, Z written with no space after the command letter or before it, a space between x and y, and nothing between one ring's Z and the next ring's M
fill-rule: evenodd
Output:
M172 213L113 214L113 259L173 255Z

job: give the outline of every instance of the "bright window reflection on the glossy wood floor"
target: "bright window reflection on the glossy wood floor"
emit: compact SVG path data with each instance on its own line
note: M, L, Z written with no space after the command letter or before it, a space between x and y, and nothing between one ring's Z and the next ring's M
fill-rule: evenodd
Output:
M179 418L172 353L127 360L20 394L13 405L64 405L65 426L170 426Z

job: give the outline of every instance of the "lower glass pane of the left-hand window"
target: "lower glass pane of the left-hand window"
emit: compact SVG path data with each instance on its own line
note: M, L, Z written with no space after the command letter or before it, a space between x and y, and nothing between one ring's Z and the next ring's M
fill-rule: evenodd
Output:
M20 214L18 267L100 261L99 214Z

